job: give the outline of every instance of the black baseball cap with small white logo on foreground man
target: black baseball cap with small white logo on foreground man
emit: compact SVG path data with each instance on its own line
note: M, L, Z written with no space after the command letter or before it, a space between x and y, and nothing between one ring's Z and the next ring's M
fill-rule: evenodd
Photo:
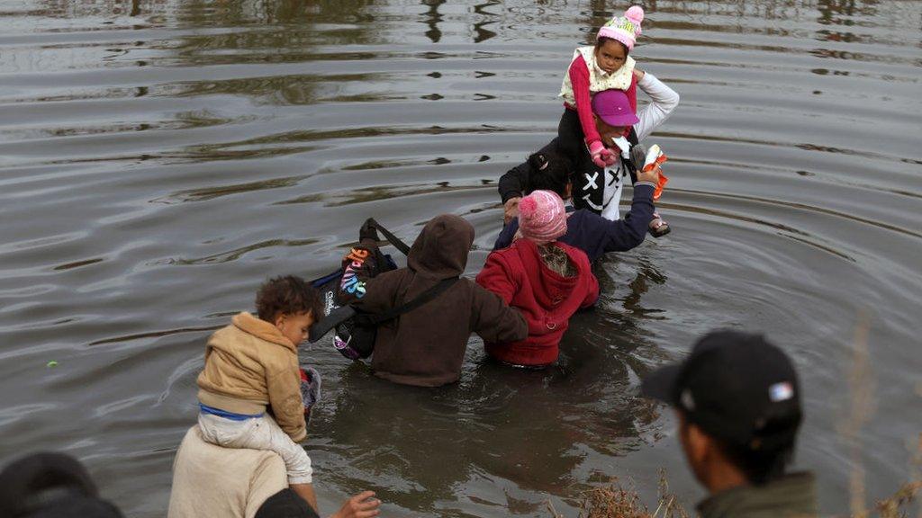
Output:
M791 447L802 419L797 372L785 352L762 335L733 330L703 336L687 359L644 377L641 393L750 451Z

